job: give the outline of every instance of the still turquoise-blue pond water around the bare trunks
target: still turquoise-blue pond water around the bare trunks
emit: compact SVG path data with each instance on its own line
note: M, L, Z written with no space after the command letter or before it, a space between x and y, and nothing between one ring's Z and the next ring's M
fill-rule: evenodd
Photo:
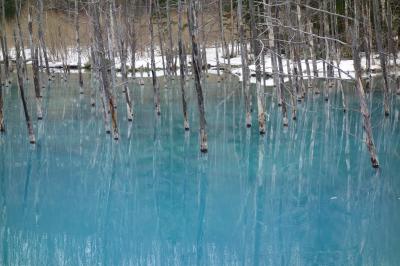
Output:
M259 136L244 127L240 84L208 81L202 155L192 84L189 133L177 82L162 89L159 120L151 87L132 85L135 120L120 94L118 142L73 84L43 91L34 146L16 85L4 92L1 265L400 264L400 99L387 119L382 95L369 99L376 171L351 86L351 111L339 94L309 95L287 129L267 95Z

